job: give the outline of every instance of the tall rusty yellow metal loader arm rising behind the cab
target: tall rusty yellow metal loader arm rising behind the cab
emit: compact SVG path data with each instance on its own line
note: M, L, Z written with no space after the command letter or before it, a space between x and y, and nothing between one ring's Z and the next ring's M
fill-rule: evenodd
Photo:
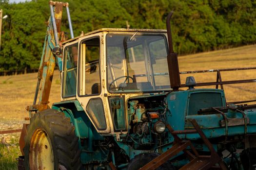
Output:
M53 79L53 72L55 68L55 61L58 60L59 70L62 69L62 60L61 60L61 49L59 46L59 36L62 35L60 31L60 24L61 24L61 18L62 18L62 8L68 7L68 3L63 2L54 2L50 1L50 11L51 11L51 17L48 20L48 26L47 26L47 32L45 35L45 41L39 66L39 72L38 72L38 83L35 91L34 101L33 105L36 105L38 94L39 95L39 103L37 107L30 107L28 106L28 111L31 117L32 111L35 111L35 109L30 108L37 108L37 110L44 110L46 108L49 108L49 95L50 95L50 89ZM70 19L69 10L68 16L69 16L69 23L70 28L72 30L72 24ZM72 36L73 30L71 31ZM40 91L39 91L40 90ZM36 112L37 112L36 110Z

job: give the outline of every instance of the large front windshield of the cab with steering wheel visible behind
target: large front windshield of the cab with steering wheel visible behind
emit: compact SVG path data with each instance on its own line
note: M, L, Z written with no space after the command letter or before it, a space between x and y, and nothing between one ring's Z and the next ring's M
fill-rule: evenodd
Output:
M164 34L107 34L108 90L170 90Z

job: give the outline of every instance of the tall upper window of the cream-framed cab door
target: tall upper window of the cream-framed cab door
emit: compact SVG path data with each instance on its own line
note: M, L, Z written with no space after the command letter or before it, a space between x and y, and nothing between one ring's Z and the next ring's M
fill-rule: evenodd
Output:
M82 81L80 81L79 95L97 95L101 92L99 54L98 37L81 42Z

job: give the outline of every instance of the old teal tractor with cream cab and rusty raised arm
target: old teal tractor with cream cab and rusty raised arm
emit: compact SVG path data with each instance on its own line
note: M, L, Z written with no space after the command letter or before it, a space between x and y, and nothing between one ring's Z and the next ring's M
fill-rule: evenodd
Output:
M188 76L181 84L172 13L167 31L103 28L74 37L69 4L49 4L30 123L20 136L25 170L255 170L256 105L227 103L218 87L256 79L225 82L219 72L227 70L208 70L217 82ZM63 7L70 39L60 30ZM50 108L56 66L60 102Z

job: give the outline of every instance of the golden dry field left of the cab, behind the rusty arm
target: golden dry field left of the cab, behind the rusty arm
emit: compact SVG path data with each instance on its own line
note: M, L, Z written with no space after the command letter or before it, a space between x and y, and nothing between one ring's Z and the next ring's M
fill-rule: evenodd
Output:
M28 117L26 106L32 105L37 86L37 73L0 76L0 120ZM50 105L60 101L59 71L54 72Z

